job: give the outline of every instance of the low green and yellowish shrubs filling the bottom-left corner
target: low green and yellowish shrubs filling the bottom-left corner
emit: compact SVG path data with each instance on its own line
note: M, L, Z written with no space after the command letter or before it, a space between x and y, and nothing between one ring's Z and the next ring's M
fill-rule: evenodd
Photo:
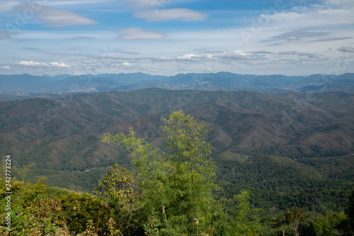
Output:
M113 212L107 198L48 187L44 180L35 185L22 181L11 184L10 235L122 235L119 223L114 220L120 218L119 210ZM4 190L0 190L3 194ZM1 198L0 204L6 205L6 199ZM1 207L0 235L9 233L4 227L6 214ZM132 216L130 220L135 224L139 218ZM135 232L124 235L138 235Z

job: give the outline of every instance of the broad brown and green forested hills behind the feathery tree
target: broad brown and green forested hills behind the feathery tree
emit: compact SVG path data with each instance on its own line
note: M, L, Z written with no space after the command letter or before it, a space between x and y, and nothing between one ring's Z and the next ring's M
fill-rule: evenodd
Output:
M91 191L114 162L130 167L125 152L100 142L103 133L132 126L159 143L161 116L179 109L210 123L222 194L251 189L269 208L344 207L354 187L354 94L345 92L154 88L1 101L0 152L13 166L35 162L32 181Z

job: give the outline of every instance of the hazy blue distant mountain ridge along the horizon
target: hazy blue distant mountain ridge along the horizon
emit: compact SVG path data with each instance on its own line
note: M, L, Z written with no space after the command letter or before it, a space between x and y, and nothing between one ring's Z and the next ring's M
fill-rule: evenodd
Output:
M276 75L233 74L230 72L205 74L176 74L159 76L144 73L86 74L72 76L33 76L30 74L0 75L0 96L15 96L13 92L22 92L17 96L38 94L63 94L68 92L132 91L136 89L161 88L170 90L195 89L203 91L258 91L263 94L287 91L354 92L354 74L338 76L312 74L310 76L288 77ZM31 95L28 95L30 93Z

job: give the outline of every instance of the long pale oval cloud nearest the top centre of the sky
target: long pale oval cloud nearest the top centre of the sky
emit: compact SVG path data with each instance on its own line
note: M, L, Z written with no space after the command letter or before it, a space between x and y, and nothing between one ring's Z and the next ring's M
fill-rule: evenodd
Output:
M207 15L190 9L159 9L159 11L138 11L134 14L137 18L147 21L202 21Z

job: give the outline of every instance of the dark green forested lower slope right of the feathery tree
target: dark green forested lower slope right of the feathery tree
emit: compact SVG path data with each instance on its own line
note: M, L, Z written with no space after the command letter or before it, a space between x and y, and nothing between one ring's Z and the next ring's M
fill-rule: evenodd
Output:
M265 210L299 206L306 211L341 212L354 186L353 157L294 160L222 152L213 159L219 167L220 196L232 198L249 189L251 206Z

